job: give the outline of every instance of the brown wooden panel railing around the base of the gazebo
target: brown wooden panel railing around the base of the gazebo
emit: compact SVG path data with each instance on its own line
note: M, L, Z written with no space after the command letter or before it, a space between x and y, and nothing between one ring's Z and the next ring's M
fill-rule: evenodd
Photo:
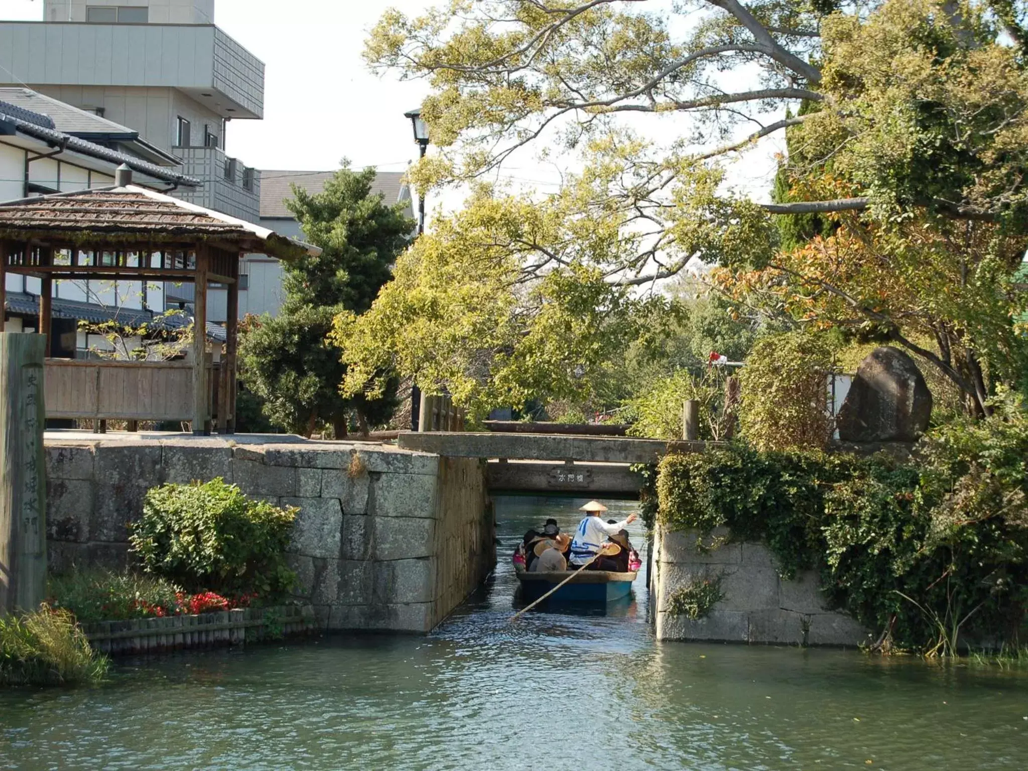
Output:
M220 378L208 362L211 414ZM97 420L192 420L193 368L181 362L47 359L46 416Z

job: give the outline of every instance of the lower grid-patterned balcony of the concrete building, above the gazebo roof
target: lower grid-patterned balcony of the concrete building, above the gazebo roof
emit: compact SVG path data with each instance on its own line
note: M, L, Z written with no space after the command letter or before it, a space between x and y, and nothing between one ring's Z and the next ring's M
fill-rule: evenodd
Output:
M194 189L180 188L177 198L197 204L248 222L260 218L260 172L244 166L219 147L175 147L182 159L182 174L204 184Z

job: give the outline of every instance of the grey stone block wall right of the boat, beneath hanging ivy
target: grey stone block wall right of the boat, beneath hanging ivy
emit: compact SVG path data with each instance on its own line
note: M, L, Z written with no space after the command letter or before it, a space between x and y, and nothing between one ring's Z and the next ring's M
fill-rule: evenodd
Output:
M853 619L825 607L816 573L784 581L765 546L729 543L727 529L715 529L697 548L696 531L657 527L650 591L658 639L808 646L871 641ZM668 611L676 590L718 577L725 596L705 618L694 621Z

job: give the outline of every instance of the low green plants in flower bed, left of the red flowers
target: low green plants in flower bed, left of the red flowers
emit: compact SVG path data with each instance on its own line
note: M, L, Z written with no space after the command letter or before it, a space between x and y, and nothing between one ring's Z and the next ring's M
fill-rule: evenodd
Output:
M50 604L83 624L145 618L157 608L170 615L182 592L182 587L160 576L111 571L76 570L51 576L47 586Z

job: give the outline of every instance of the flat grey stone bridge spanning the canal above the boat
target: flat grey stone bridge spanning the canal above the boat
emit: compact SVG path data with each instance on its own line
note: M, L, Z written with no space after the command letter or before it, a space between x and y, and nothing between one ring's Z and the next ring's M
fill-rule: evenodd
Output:
M702 452L706 442L665 442L609 436L506 433L403 433L404 449L445 457L487 461L490 492L579 493L635 498L642 477L636 464L654 464L667 452Z

